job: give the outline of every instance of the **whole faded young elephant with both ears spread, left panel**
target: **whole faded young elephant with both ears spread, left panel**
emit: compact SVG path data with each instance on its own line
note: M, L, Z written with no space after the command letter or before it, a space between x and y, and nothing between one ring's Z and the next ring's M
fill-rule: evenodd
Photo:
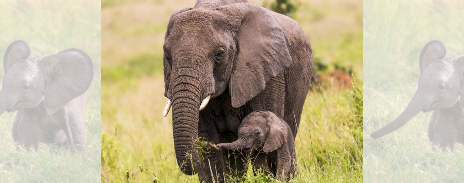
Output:
M84 150L85 91L93 63L82 50L69 49L36 59L29 45L15 41L5 51L0 114L17 111L13 140L26 149L40 142Z

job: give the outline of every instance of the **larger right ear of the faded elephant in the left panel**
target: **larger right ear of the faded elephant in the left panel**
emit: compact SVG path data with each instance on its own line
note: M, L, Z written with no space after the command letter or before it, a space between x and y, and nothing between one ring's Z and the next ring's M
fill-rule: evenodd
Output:
M64 50L42 61L49 69L44 97L47 114L58 112L90 87L93 63L83 50Z

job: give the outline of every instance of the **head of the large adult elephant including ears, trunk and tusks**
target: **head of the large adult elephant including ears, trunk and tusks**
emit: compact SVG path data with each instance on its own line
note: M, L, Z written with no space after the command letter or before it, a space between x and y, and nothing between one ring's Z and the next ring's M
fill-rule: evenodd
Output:
M182 172L200 164L200 110L227 88L232 107L264 90L292 63L290 42L270 11L250 3L174 11L164 41L164 81L173 108L174 147Z

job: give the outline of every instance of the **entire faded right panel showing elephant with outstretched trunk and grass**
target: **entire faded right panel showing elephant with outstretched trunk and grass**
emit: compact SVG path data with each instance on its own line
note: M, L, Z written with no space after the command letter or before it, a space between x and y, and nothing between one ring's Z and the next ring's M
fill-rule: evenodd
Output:
M461 0L364 1L365 182L462 182Z

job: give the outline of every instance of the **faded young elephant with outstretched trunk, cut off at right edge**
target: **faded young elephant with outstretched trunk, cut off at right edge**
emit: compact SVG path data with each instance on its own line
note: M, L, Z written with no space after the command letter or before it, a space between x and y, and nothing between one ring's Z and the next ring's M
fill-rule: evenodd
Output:
M391 123L371 134L382 137L405 125L420 111L433 111L429 139L441 149L452 149L455 142L464 143L464 57L445 57L440 41L424 46L419 58L419 86L406 109Z

